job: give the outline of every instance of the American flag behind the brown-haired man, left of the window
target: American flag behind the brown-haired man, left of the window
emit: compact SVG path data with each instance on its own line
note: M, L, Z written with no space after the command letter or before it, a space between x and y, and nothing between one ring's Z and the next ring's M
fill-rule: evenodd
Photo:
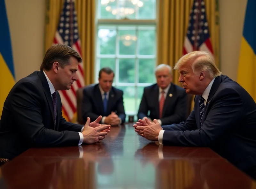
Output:
M75 49L81 56L81 43L78 35L74 0L65 0L53 43L68 45ZM78 64L78 71L76 73L78 80L73 83L71 89L59 91L62 112L66 115L68 121L72 121L76 113L76 90L84 86L83 64Z

